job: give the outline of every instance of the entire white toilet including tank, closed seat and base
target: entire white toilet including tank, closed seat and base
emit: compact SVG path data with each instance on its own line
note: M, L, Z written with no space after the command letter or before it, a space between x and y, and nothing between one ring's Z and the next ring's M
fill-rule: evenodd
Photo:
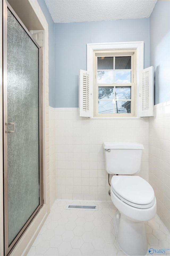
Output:
M111 199L119 212L114 216L117 243L126 255L146 255L148 243L144 221L156 214L151 185L139 176L142 144L104 142L105 167L111 179Z

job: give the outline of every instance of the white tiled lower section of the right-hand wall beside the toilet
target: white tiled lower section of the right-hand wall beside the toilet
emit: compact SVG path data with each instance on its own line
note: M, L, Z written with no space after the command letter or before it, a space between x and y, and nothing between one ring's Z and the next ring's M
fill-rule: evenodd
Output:
M157 214L170 230L170 101L154 106L149 118L149 183L155 191Z

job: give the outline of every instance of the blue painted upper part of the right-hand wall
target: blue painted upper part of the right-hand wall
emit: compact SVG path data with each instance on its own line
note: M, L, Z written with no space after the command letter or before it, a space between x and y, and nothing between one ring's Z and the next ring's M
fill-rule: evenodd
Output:
M150 16L150 65L154 104L170 100L170 1L157 1Z

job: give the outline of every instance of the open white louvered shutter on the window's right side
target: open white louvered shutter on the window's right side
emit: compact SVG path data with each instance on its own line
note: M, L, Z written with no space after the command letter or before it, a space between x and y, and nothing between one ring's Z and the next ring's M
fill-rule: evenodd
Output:
M143 69L139 88L139 116L154 116L154 67Z

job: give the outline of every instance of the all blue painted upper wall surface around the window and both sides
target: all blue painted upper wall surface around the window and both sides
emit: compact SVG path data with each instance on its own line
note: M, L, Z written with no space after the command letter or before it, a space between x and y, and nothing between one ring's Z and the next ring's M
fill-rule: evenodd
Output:
M45 1L38 2L49 26L51 107L78 107L78 74L86 70L86 45L97 42L144 41L144 68L154 66L155 104L170 100L170 1L158 1L150 18L73 23L53 23Z

